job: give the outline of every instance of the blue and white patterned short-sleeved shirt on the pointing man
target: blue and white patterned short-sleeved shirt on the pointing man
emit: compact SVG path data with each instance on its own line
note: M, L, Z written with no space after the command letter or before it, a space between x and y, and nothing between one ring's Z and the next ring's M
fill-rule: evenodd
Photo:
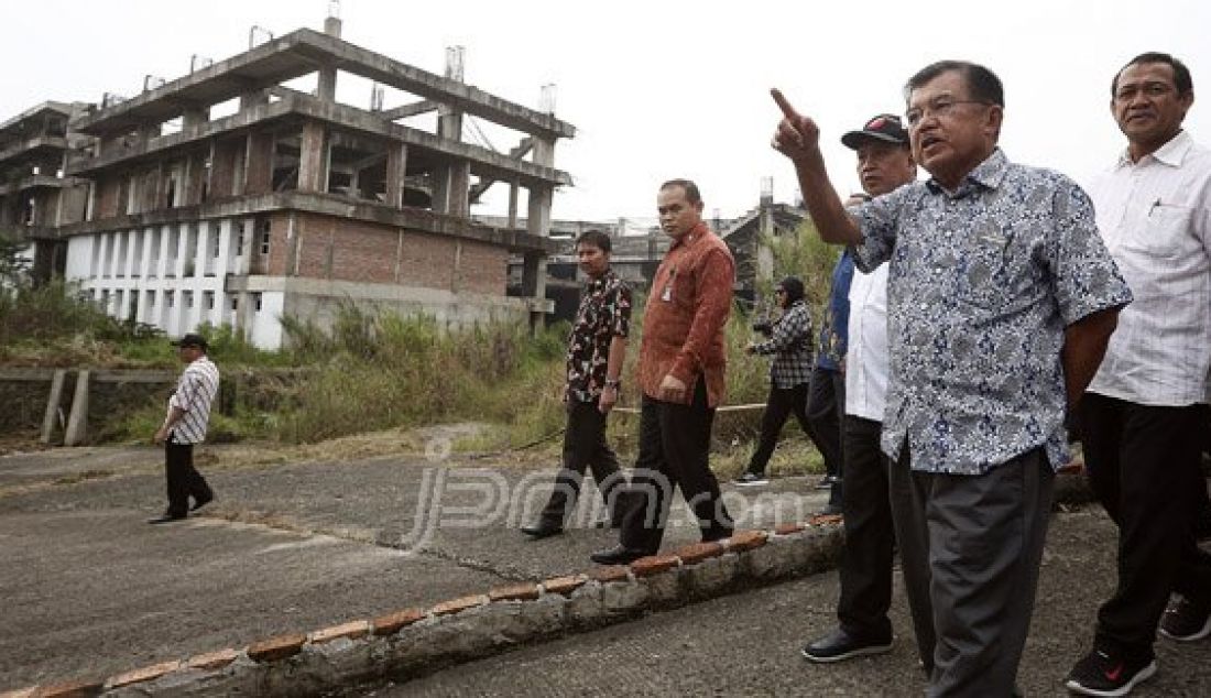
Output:
M1043 447L1068 462L1064 328L1131 302L1089 196L1000 149L953 193L932 179L862 205L862 270L890 261L883 450L978 475Z

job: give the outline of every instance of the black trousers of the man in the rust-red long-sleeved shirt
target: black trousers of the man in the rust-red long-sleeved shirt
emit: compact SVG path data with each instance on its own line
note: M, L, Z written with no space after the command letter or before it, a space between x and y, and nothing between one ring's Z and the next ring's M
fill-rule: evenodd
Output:
M711 473L711 424L706 382L699 378L694 402L678 405L643 396L639 413L639 454L626 491L620 543L655 553L660 549L673 490L694 511L704 540L731 534L733 522Z

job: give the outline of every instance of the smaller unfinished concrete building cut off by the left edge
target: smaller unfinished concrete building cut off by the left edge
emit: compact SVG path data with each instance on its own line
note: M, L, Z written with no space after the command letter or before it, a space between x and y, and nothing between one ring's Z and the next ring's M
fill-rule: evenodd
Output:
M56 230L84 221L87 182L65 171L68 153L87 143L68 132L68 122L86 107L44 102L0 124L0 235L28 245L40 279L64 270L65 246L53 242Z

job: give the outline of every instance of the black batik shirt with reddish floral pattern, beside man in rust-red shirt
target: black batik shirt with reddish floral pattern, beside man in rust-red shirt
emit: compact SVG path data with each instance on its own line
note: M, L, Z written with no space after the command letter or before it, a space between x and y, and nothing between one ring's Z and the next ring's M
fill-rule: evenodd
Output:
M631 330L631 287L609 269L580 294L568 338L567 399L596 402L606 387L609 343Z

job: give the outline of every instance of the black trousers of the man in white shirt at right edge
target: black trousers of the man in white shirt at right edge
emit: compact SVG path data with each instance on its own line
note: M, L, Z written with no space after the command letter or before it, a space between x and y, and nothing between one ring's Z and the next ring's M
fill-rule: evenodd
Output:
M1150 651L1178 593L1211 602L1211 555L1195 544L1206 491L1200 450L1206 406L1152 407L1086 393L1085 471L1119 527L1119 584L1097 612L1098 647Z

